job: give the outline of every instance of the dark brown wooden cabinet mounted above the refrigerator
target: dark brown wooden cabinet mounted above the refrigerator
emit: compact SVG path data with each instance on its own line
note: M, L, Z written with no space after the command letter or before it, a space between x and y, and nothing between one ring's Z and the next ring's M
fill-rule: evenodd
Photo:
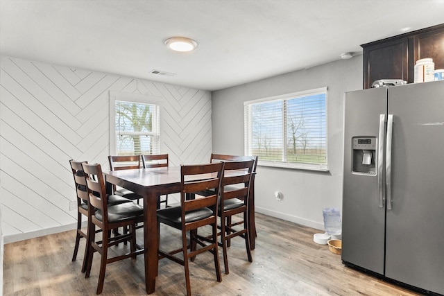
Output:
M444 24L361 45L364 49L364 89L379 79L413 82L417 60L432 58L444 69Z

